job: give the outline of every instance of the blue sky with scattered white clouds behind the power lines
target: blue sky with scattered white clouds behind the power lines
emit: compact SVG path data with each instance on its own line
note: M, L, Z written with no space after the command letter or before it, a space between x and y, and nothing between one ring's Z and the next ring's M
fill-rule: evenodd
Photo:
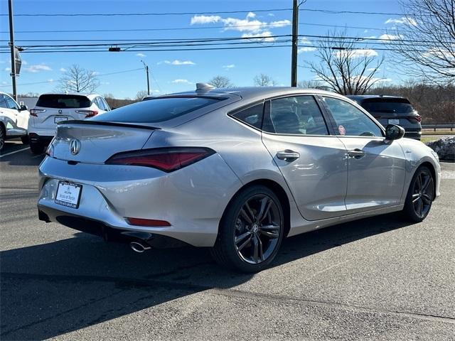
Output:
M8 13L7 1L1 1L1 13ZM14 0L14 13L156 13L156 12L208 12L208 11L251 11L251 13L206 14L179 16L75 16L75 17L34 17L16 16L14 29L16 45L44 44L47 39L188 39L188 38L230 38L245 35L268 36L291 33L291 11L255 12L264 9L291 8L292 1L26 1ZM398 1L322 1L308 0L305 9L326 9L341 11L378 11L400 13ZM9 26L6 16L1 16L0 40L5 46L9 40ZM400 22L401 21L401 22ZM390 33L393 27L403 25L400 16L330 14L301 11L299 22L306 24L360 26L346 28L348 36L379 38ZM257 24L257 26L255 26ZM265 24L265 25L264 25ZM211 28L219 27L223 28ZM235 27L231 27L235 26ZM176 31L127 31L127 32L79 32L65 33L65 30L102 29L150 29L150 28L195 28ZM375 29L368 29L375 28ZM299 34L325 35L333 28L300 25ZM19 33L20 31L57 31L54 33ZM24 41L28 40L28 41ZM55 42L54 42L55 43ZM64 43L64 42L58 42ZM82 41L77 43L84 43ZM301 42L299 65L304 60L315 60L312 48ZM107 50L107 48L105 48ZM378 58L382 52L377 50ZM62 72L72 64L78 64L100 75L97 92L112 93L118 98L134 98L139 90L146 89L145 72L141 60L149 65L151 89L154 93L169 93L191 90L196 82L207 82L215 75L229 77L237 86L253 84L259 73L271 76L277 85L289 85L291 48L258 48L250 50L210 50L172 52L120 52L120 53L23 53L22 70L18 77L18 93L50 92L55 90ZM0 54L0 90L11 92L9 77L9 54ZM140 69L131 72L105 75L112 72ZM385 82L400 82L392 65L385 63L378 74ZM299 80L314 79L309 70L299 67ZM33 82L43 84L26 85Z

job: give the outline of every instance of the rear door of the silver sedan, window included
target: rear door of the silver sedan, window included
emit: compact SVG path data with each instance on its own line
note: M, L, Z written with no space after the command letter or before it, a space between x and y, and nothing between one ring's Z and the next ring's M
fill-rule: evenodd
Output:
M346 214L346 149L329 135L311 95L266 102L262 141L282 172L301 215L321 220Z

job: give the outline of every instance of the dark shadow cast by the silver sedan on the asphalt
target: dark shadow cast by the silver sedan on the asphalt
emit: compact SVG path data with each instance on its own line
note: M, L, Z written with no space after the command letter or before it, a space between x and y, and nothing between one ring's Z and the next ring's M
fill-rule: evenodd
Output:
M392 214L290 237L272 268L407 225ZM208 249L136 254L82 233L0 255L1 340L42 340L151 307L151 314L172 314L159 305L253 276L220 268Z

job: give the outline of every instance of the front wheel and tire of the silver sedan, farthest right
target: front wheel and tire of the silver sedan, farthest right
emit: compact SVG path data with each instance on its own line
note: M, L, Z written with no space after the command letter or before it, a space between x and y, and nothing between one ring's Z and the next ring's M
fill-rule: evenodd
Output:
M434 178L426 166L417 168L407 190L402 215L406 220L422 222L432 207L434 199Z

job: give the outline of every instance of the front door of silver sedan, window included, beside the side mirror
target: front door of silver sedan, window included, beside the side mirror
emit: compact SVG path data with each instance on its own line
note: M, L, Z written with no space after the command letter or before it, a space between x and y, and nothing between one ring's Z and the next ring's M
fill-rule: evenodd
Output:
M323 104L347 150L348 212L400 204L406 162L400 144L385 143L380 126L353 104L335 97L323 97Z

